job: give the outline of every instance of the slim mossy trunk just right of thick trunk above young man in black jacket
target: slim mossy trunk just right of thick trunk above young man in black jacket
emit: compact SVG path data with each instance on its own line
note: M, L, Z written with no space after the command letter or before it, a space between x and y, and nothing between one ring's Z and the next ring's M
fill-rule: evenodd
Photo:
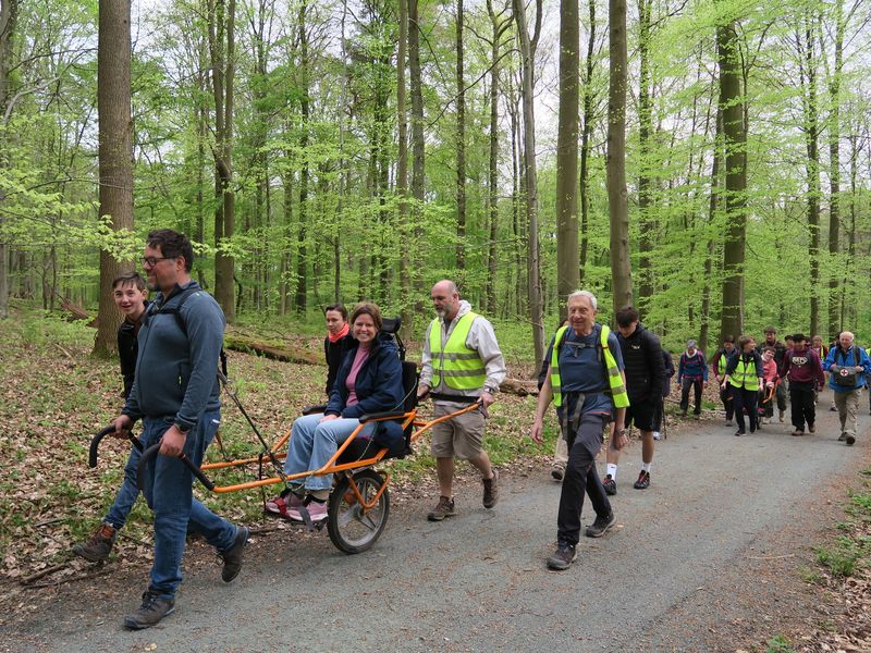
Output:
M653 224L651 222L652 163L650 137L653 133L653 107L650 97L651 0L638 0L638 306L647 309L653 297ZM691 168L691 167L690 167Z

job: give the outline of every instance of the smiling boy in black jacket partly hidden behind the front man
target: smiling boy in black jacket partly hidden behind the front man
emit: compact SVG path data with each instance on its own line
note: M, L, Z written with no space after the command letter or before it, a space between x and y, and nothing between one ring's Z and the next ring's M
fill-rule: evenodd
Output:
M140 319L148 306L146 299L148 288L146 288L145 280L136 272L118 276L112 282L112 297L115 306L124 316L124 321L118 328L118 357L121 361L121 375L124 378L123 397L126 399L136 373L136 355L139 349L136 336L139 333ZM124 466L124 480L118 490L114 503L94 534L85 542L73 546L74 554L91 563L98 563L109 557L118 531L126 523L133 504L139 496L139 488L136 484L138 465L139 451L131 447L127 464Z

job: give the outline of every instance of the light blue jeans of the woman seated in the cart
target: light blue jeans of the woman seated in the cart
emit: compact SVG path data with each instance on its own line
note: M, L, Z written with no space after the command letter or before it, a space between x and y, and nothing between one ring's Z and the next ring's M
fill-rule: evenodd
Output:
M360 423L358 419L341 417L321 422L322 417L322 412L306 415L293 422L291 444L287 447L287 458L284 460L284 473L320 469L333 457L339 445L347 440ZM358 438L371 438L375 428L376 422L369 422L363 427ZM332 485L333 475L331 473L308 477L305 480L306 490L309 492L329 490Z

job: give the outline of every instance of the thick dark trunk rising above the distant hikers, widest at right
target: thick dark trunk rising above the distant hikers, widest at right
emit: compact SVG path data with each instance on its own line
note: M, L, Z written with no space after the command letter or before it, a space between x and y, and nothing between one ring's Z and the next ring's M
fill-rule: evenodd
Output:
M747 172L744 97L740 85L738 35L735 22L716 28L720 62L720 111L726 163L725 209L728 229L723 247L723 310L720 332L744 331L744 260L747 233Z

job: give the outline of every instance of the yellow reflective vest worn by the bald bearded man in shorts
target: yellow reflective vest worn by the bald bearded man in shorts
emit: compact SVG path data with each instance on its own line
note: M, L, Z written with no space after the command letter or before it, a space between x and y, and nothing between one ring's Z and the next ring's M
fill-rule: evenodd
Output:
M466 346L471 323L478 316L467 312L457 320L442 350L442 328L439 318L430 323L429 350L432 356L432 387L444 382L454 390L477 390L487 381L481 356Z

